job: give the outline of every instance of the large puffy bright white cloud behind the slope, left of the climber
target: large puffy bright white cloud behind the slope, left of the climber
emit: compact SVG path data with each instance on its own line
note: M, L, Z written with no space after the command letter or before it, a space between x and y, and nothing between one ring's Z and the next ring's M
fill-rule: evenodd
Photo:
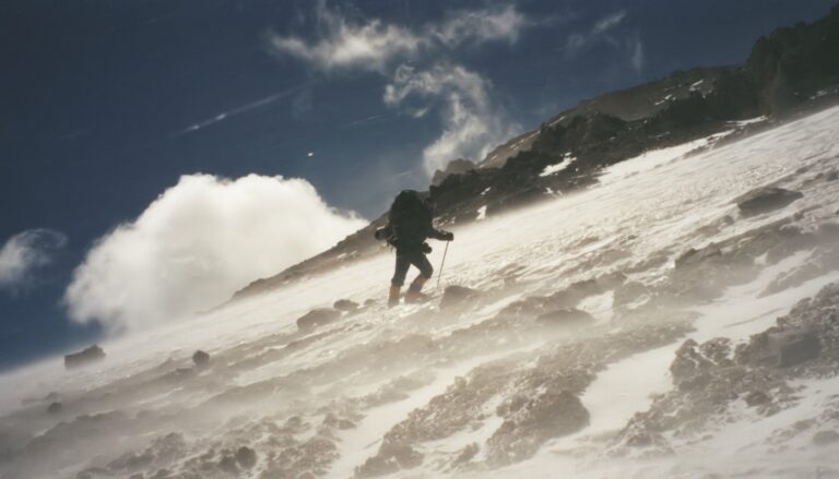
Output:
M302 179L184 176L134 221L101 238L64 301L110 330L217 306L256 278L328 249L366 224Z

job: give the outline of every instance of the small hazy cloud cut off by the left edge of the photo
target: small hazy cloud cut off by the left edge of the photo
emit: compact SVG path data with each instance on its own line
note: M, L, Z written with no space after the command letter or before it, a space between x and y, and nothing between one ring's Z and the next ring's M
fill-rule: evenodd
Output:
M51 229L28 229L9 238L0 249L0 290L15 292L26 286L39 267L50 263L67 237Z

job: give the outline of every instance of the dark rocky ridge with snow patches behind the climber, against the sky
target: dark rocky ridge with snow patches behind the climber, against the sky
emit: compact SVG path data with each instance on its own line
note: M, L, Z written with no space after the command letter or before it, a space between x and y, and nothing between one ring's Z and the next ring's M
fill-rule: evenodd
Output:
M839 97L839 5L823 19L760 37L742 65L676 71L663 80L581 101L476 164L458 159L438 171L430 193L440 221L463 224L593 184L610 165L647 151L714 133L726 140ZM736 121L768 117L760 124ZM733 132L731 132L734 130ZM470 167L470 165L472 167ZM234 298L272 289L383 248L373 238L380 216L334 248Z

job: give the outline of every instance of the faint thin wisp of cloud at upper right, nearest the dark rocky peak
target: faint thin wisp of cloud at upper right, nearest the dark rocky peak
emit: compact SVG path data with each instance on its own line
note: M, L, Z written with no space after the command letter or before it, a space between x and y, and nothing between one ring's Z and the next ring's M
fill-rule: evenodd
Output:
M605 44L621 52L626 64L640 73L645 60L640 36L636 32L616 32L626 16L626 11L621 10L598 20L588 32L568 35L564 48L566 57L574 58L594 45Z

